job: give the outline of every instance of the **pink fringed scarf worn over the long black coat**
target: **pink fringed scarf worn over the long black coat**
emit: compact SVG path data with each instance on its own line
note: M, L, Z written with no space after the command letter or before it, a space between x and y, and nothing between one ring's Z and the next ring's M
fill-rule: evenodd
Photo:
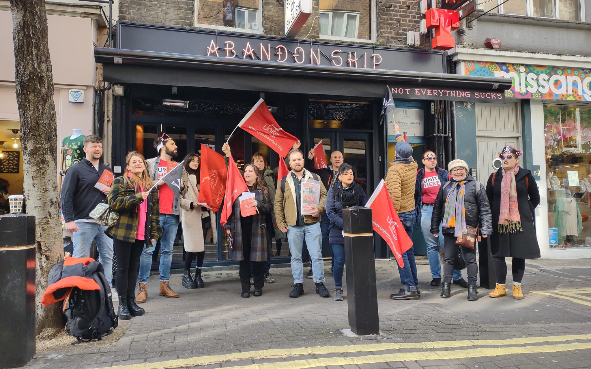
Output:
M521 217L517 203L517 185L515 185L515 174L519 166L509 173L503 169L501 181L501 210L499 211L499 233L515 233L521 231Z

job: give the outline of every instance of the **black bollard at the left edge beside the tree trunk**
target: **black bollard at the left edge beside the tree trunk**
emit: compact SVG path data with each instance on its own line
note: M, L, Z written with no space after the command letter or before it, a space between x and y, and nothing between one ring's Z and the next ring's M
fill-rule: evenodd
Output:
M0 216L0 369L22 367L35 354L35 217Z

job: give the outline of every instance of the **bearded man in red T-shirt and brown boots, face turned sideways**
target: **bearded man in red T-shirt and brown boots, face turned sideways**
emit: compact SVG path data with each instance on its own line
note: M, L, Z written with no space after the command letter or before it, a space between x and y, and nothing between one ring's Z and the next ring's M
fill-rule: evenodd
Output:
M168 187L161 178L168 172L168 162L174 162L178 156L177 145L174 140L166 133L154 140L154 148L160 156L148 159L146 167L148 173L158 182L158 204L160 204L160 227L162 227L162 237L160 237L160 290L158 294L170 299L178 298L178 293L168 285L170 279L170 265L173 262L174 239L177 236L180 198ZM181 182L181 191L183 191L183 182ZM148 189L144 189L146 191ZM152 266L152 254L156 244L152 247L144 247L142 256L139 259L139 288L135 302L145 302L148 297L147 283L150 277L150 268Z

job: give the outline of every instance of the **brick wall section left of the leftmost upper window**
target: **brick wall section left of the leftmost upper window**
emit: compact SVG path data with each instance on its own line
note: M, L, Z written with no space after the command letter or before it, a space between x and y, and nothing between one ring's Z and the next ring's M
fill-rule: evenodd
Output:
M181 25L193 25L193 0L121 0L119 19L122 21Z

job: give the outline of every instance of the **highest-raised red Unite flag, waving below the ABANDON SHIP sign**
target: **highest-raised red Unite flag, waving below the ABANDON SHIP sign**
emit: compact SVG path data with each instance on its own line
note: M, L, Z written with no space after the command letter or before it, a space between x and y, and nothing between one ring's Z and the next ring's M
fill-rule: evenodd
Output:
M291 147L297 142L295 136L285 132L275 122L274 117L269 112L269 108L263 99L259 99L245 117L242 118L238 126L266 143L279 156L287 156Z

